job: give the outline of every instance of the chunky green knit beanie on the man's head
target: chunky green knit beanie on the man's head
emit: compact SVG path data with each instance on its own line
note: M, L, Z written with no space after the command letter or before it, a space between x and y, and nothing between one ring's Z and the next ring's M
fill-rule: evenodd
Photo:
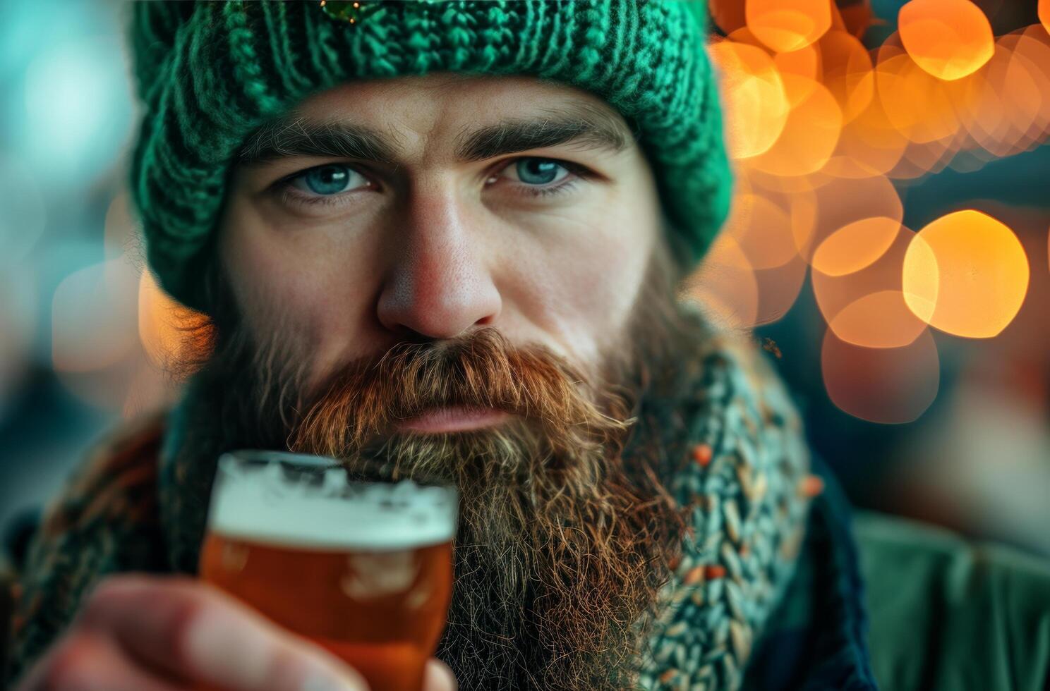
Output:
M248 135L339 83L436 71L529 74L588 90L638 133L672 246L700 260L730 172L701 0L139 2L130 44L144 113L130 190L161 286L208 311L201 277Z

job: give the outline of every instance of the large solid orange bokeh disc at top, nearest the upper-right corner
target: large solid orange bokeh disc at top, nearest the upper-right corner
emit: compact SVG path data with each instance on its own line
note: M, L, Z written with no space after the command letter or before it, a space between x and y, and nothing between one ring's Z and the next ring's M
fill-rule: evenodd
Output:
M901 41L911 59L945 81L971 74L991 58L991 24L969 0L911 0L898 15Z

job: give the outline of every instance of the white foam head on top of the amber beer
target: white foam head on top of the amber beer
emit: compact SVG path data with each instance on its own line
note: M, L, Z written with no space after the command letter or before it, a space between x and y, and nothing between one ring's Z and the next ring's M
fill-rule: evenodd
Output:
M224 454L208 530L260 544L370 550L412 549L455 536L455 488L348 482L335 463L274 451Z

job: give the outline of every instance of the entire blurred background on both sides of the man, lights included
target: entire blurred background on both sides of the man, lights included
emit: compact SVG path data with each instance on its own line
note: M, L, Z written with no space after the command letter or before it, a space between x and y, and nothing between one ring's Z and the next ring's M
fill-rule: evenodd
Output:
M684 298L769 351L855 503L1050 556L1050 0L709 8L737 188ZM126 14L0 2L0 525L177 392Z

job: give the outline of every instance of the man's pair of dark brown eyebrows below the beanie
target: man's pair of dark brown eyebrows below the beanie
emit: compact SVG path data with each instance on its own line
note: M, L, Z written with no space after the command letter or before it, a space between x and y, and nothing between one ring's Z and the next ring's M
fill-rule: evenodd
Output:
M572 144L574 150L620 153L637 138L624 121L589 104L573 104L539 116L464 130L456 137L456 156L470 163L565 144ZM396 167L400 151L395 137L364 125L289 117L253 132L240 148L238 159L244 166L255 166L291 156L331 156Z

